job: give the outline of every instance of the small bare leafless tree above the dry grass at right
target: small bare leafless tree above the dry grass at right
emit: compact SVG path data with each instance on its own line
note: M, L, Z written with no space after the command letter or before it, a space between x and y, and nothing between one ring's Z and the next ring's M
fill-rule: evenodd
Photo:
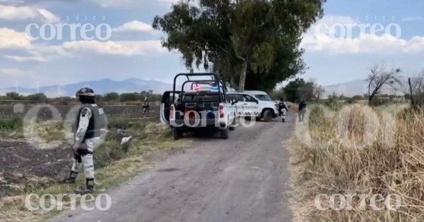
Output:
M381 92L384 85L397 90L397 87L401 86L399 73L401 73L399 68L391 68L391 70L386 70L384 64L373 66L370 69L370 75L368 75L367 78L368 103L372 104L372 99Z

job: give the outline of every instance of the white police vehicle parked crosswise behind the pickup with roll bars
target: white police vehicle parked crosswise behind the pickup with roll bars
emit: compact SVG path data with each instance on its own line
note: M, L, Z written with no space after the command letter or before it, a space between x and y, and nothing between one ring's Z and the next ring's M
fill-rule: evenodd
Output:
M269 94L262 91L228 92L235 104L237 116L255 117L257 121L271 121L278 116L278 104L272 101Z

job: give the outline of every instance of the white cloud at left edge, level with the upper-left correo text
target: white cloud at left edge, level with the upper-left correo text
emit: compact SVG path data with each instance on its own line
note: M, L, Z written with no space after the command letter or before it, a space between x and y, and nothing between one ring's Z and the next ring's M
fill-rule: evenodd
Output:
M0 28L0 49L29 48L30 39L23 32L16 32L7 27Z

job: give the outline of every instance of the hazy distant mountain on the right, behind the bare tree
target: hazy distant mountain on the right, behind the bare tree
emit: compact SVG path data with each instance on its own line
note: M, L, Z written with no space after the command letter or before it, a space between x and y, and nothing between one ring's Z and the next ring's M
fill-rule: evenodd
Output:
M384 86L380 94L396 94L403 95L403 89L408 85L408 78L402 76L401 78L402 86L397 86L398 90L393 90L391 87ZM341 95L343 94L346 97L353 97L355 95L363 95L368 93L368 82L366 80L353 80L349 82L342 82L336 85L328 85L324 87L325 93L324 97L327 97L332 94Z

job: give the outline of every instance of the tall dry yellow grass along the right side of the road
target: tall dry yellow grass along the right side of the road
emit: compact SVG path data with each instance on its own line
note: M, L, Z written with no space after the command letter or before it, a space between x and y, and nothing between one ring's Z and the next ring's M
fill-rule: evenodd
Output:
M311 107L290 141L294 221L424 221L424 112L404 108ZM320 211L319 194L399 195L401 207L376 211L353 198L351 210Z

